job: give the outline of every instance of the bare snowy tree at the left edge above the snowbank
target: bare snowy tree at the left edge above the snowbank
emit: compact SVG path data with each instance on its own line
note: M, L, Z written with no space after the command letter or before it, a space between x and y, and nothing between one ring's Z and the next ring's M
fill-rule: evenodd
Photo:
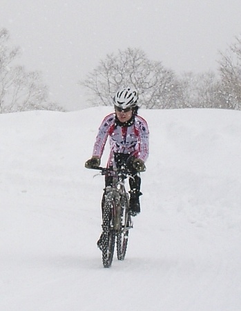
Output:
M9 33L0 30L0 113L25 110L60 110L48 102L48 88L39 72L26 72L23 66L14 66L19 48L8 46Z

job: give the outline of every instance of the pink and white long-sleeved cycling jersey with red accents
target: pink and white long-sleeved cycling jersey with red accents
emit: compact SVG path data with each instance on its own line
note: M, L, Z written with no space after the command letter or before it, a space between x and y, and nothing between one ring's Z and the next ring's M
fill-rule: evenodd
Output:
M146 120L139 115L131 126L118 126L115 123L115 113L108 114L99 127L93 148L93 157L102 157L106 139L110 137L110 157L108 166L114 165L114 153L130 154L146 161L149 152L149 130Z

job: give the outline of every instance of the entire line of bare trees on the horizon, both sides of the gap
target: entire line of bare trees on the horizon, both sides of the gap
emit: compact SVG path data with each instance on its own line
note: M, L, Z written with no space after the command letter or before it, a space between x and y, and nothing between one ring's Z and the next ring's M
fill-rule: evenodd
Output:
M16 66L20 48L9 46L9 32L0 30L0 113L26 110L65 111L48 100L41 72ZM79 85L87 90L90 106L111 106L119 88L139 92L147 109L222 108L241 110L241 36L220 52L218 72L175 74L161 61L151 61L139 48L107 54Z

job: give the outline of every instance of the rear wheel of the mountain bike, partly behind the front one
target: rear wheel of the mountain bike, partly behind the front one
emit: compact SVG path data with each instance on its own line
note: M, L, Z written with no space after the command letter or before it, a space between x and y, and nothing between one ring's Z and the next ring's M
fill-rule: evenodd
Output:
M131 216L128 214L128 198L123 195L120 201L122 213L120 230L117 232L117 258L119 260L124 260L128 243L129 227L131 225Z

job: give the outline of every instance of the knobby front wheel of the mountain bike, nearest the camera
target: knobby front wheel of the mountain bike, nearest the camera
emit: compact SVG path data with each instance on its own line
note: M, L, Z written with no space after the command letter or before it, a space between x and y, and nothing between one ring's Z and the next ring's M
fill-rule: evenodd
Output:
M110 268L115 252L115 230L113 200L106 196L103 214L102 263L104 268Z

